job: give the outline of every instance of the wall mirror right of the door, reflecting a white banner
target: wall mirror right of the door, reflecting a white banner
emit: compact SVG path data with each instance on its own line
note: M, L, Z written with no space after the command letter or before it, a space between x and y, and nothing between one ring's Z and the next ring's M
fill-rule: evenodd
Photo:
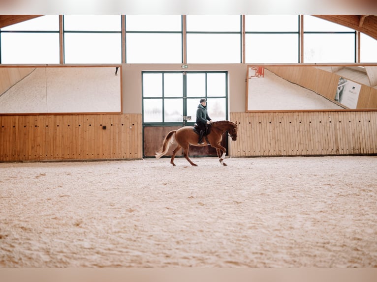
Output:
M248 65L247 111L377 109L377 65Z

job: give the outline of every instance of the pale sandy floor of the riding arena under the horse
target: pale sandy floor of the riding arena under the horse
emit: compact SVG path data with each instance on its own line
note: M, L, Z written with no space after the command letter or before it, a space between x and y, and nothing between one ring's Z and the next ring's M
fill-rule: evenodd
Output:
M0 163L0 266L377 267L377 157L193 161Z

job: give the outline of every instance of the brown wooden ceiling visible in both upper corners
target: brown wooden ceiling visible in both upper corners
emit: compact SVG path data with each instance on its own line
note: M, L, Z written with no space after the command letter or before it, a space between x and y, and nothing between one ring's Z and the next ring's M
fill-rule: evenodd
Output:
M42 15L0 15L0 28ZM355 29L377 40L377 15L314 15L315 17Z

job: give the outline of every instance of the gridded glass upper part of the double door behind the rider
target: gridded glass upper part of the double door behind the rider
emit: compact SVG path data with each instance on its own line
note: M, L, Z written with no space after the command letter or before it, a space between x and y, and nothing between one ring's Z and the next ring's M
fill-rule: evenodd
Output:
M227 118L226 72L143 72L143 123L194 123L200 98L208 114Z

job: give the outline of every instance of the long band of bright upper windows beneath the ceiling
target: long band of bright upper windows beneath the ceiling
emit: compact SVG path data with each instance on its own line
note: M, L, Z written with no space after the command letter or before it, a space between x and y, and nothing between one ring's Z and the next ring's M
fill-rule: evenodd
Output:
M121 15L63 15L63 63L183 63L184 57L185 63L207 64L301 62L300 15L245 15L245 42L242 18L126 15L122 38ZM59 28L59 15L1 28L0 63L59 64ZM303 63L356 62L355 30L310 15L303 16L303 28ZM377 40L360 37L360 62L377 62Z

